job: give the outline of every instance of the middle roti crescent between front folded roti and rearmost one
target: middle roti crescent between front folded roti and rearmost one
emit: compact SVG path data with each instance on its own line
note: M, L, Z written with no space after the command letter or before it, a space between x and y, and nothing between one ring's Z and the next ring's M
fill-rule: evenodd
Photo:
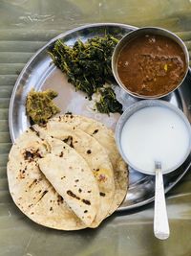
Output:
M39 126L33 126L33 128L41 137L49 135L65 141L88 163L96 177L100 195L99 210L96 220L91 225L96 227L108 215L115 196L114 172L107 151L94 137L66 123L51 122L46 128Z

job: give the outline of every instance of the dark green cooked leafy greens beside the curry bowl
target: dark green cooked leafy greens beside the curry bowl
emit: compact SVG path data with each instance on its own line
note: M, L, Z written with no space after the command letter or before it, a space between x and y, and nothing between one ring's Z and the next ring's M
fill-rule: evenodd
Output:
M76 90L81 90L91 100L94 93L102 88L106 81L114 79L111 58L117 45L117 38L112 35L96 36L82 42L78 39L73 47L66 45L62 40L55 41L49 49L53 63L68 76L68 81L73 83ZM96 103L96 109L102 113L121 112L121 107L112 90L104 88L100 91L103 103ZM113 91L113 93L112 93ZM112 96L111 96L112 95ZM108 112L109 111L109 112Z

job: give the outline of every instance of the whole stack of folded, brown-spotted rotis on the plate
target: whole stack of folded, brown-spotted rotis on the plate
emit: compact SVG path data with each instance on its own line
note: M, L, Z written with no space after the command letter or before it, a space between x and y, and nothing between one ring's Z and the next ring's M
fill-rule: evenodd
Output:
M32 221L62 230L96 227L125 198L128 169L114 133L63 115L28 128L11 148L11 197Z

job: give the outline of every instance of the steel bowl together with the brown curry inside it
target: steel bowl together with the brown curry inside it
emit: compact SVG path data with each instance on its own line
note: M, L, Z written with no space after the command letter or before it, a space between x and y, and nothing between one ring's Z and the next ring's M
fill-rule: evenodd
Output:
M174 91L188 70L188 53L177 35L142 28L118 43L113 71L118 83L139 98L160 98Z

